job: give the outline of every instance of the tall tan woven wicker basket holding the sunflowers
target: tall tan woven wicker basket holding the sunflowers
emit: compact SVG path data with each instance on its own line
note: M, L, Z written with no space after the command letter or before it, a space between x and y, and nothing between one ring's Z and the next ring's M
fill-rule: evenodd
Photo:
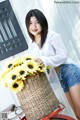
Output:
M25 88L17 96L27 120L43 118L59 106L45 73L29 77Z

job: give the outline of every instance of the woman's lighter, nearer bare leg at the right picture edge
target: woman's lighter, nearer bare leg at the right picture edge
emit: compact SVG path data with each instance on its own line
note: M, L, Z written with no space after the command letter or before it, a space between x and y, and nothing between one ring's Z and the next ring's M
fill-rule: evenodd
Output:
M69 92L76 109L76 116L80 119L80 84L72 86Z

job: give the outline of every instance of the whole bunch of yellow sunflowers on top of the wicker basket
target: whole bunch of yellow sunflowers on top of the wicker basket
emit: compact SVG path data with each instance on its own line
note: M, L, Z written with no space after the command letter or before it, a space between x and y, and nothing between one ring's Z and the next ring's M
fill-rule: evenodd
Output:
M25 87L29 76L44 71L45 67L37 63L32 56L16 58L7 63L5 71L1 75L1 82L4 86L17 93Z

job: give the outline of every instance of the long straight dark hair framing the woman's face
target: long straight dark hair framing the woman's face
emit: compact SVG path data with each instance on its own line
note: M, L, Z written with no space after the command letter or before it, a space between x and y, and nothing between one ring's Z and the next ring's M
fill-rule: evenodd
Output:
M30 36L30 38L32 39L33 42L34 42L34 35L32 35L29 32L30 18L32 16L36 17L36 19L39 21L39 23L42 27L42 32L41 32L41 48L42 48L43 44L45 43L47 32L48 32L48 22L47 22L46 17L44 16L44 14L38 9L30 10L27 13L26 19L25 19L25 24L26 24L26 27L27 27L28 34L29 34L29 36Z

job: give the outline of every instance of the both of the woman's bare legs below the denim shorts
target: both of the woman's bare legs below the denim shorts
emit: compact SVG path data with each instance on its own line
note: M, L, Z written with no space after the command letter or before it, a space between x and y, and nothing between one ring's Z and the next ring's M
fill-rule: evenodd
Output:
M65 95L75 115L80 119L80 84L71 87Z

